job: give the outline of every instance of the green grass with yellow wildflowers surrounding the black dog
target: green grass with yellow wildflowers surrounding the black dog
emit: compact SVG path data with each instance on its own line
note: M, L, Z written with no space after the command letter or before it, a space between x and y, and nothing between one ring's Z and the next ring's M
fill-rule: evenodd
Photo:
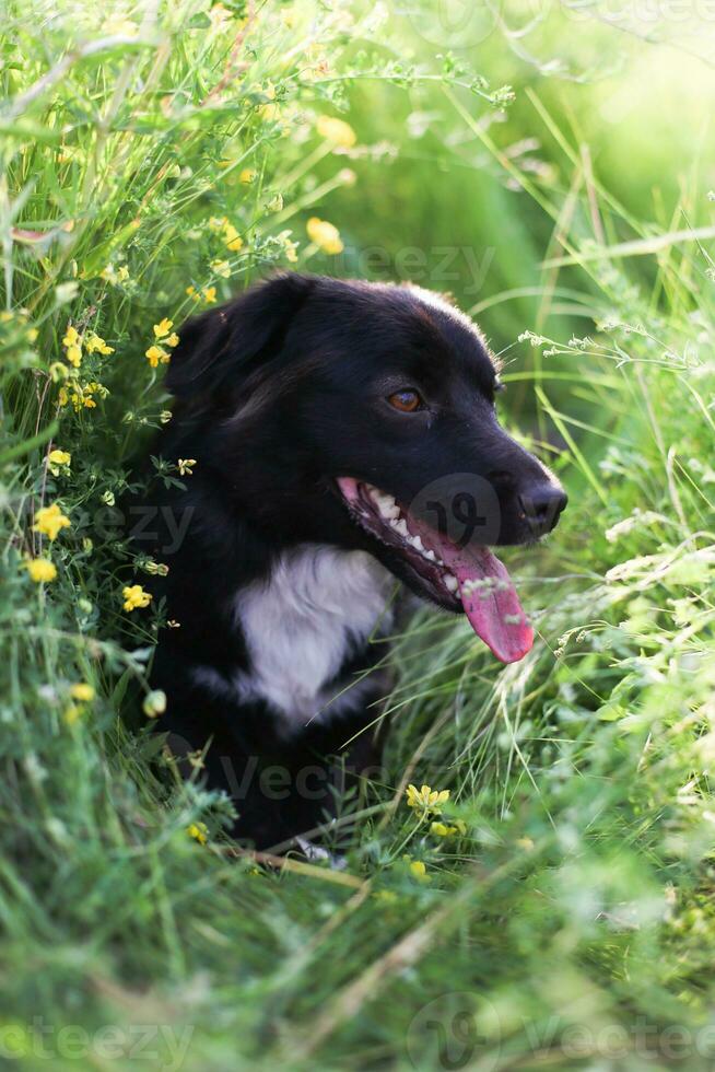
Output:
M599 130L593 109L631 85L599 70L621 47L603 27L538 26L526 57L495 34L457 61L356 7L114 10L10 3L0 43L0 1061L712 1067L715 266L678 235L712 225L702 116L664 110L657 151L642 112ZM556 46L583 77L536 62ZM332 151L321 115L356 145ZM638 147L626 176L614 142ZM344 254L310 245L314 214ZM448 289L503 351L506 422L571 496L508 559L538 642L502 668L421 613L391 656L385 777L342 805L345 871L257 864L142 710L164 614L126 613L121 590L151 592L161 563L110 511L165 419L144 353L204 306L188 287L395 275L413 246L444 289L444 245L493 248L477 291L464 256ZM85 345L74 369L70 324L114 352ZM32 526L51 503L71 524L50 543ZM410 782L450 791L456 834L407 806Z

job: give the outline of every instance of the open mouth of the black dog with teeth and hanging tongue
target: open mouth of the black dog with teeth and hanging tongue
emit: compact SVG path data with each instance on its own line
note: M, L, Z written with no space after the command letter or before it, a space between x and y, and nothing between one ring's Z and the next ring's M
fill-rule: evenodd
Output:
M502 663L531 650L529 625L506 567L489 547L460 548L370 483L338 477L353 520L399 557L421 594L450 610L464 610Z

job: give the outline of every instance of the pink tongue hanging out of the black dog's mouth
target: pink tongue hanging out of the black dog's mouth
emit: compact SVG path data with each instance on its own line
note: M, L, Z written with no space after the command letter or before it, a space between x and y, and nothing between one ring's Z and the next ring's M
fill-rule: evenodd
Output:
M465 614L477 636L503 663L524 659L534 645L534 629L526 619L512 579L489 547L464 550L433 536L439 556L459 581Z

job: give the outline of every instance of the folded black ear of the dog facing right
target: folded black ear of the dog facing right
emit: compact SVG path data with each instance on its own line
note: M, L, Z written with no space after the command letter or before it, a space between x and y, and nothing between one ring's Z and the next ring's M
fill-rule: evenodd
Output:
M172 353L168 391L179 398L204 395L277 353L314 286L308 276L284 272L219 308L192 316L180 328Z

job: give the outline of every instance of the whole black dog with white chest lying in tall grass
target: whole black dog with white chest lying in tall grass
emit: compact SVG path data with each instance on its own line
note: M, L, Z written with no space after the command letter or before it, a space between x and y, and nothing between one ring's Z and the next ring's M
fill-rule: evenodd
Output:
M153 667L162 725L178 750L208 745L236 836L274 846L331 811L326 757L353 741L348 766L374 761L370 641L395 578L520 659L531 629L487 545L538 538L566 498L500 427L474 326L414 287L274 277L189 321L166 383L159 453L196 467L151 504L154 593L178 622Z

